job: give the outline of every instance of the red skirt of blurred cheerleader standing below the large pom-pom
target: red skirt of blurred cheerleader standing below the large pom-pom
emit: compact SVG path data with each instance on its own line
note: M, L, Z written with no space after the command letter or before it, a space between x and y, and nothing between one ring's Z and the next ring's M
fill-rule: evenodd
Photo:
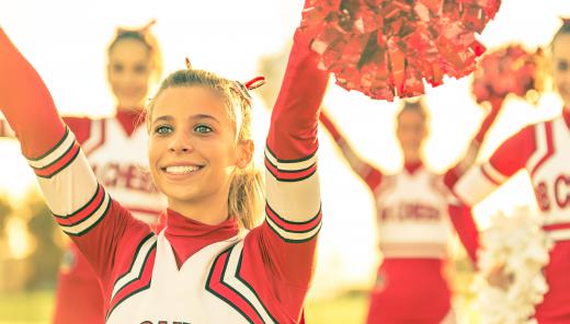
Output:
M438 324L451 310L444 262L389 258L378 269L371 293L368 324Z

